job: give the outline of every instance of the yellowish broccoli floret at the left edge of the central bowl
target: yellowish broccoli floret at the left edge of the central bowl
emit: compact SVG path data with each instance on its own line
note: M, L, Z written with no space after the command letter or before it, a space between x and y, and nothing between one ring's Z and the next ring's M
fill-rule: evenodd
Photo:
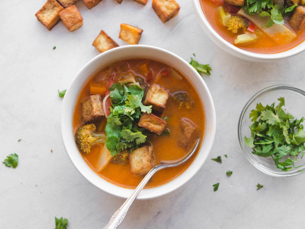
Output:
M103 133L96 133L95 124L90 123L83 126L78 127L75 134L75 141L79 148L79 150L88 154L91 151L91 146L96 143L105 143L107 137Z

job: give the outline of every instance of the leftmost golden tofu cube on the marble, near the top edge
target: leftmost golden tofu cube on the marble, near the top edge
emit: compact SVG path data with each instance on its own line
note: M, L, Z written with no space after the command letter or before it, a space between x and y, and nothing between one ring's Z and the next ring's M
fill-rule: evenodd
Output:
M48 30L51 30L59 22L60 18L58 14L63 9L56 0L47 0L35 16Z

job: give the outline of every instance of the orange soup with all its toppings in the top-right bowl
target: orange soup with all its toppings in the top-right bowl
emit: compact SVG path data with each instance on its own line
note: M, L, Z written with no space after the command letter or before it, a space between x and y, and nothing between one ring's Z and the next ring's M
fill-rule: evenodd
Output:
M305 0L198 0L213 29L249 52L289 50L305 39Z

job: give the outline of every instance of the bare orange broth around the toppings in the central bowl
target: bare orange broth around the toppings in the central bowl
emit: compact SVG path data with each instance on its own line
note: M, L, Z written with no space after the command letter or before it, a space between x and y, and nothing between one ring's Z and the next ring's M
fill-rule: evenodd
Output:
M143 69L140 68L140 66L143 66L143 64L146 64L149 71L151 71L152 74L149 76L151 79L148 79L148 74L144 73ZM164 75L164 70L166 70L165 72L169 74ZM90 90L92 90L91 87L106 87L110 78L114 77L114 82L117 83L126 75L135 76L136 81L142 82L141 87L143 88L144 93L153 83L159 84L170 90L170 96L167 100L164 112L162 114L157 114L161 118L167 117L166 128L169 130L170 134L161 134L160 136L154 134L147 136L147 139L149 142L151 142L156 155L156 164L158 164L161 160L180 159L185 156L187 152L189 152L189 149L186 149L179 144L179 141L181 141L181 127L179 123L182 118L188 118L197 125L196 133L200 137L201 141L203 140L205 125L204 112L202 103L195 89L177 70L164 63L149 59L129 59L118 61L107 66L105 69L101 70L94 77L92 77L84 85L84 88L82 88L77 98L73 117L74 134L76 133L78 127L85 124L82 118L82 102L92 95L90 93ZM188 94L190 101L188 103L183 103L175 100L173 95L179 92ZM101 95L103 99L105 94L101 93ZM106 122L106 117L101 117L89 123L95 123L96 131L105 132ZM195 141L195 139L193 140ZM147 144L149 143L144 143L144 145ZM102 171L98 172L96 170L102 147L103 145L94 145L89 154L84 155L82 153L84 160L97 174L99 174L99 176L105 180L125 188L135 188L143 179L144 175L135 176L131 174L131 165L128 160L125 164L110 162ZM195 156L193 156L183 165L158 171L146 185L146 188L165 184L173 180L175 177L178 177L192 163L193 159L198 153L198 150L199 148L197 149Z

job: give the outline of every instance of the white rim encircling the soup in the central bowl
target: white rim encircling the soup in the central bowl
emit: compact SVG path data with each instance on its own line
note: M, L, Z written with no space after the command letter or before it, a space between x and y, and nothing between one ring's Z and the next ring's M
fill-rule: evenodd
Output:
M74 77L74 79L70 83L68 89L66 90L65 97L63 98L62 112L61 112L61 124L60 125L61 125L61 134L62 134L63 145L66 149L66 153L69 156L72 164L75 166L77 171L83 177L85 177L91 184L95 185L95 187L97 187L97 188L99 188L99 189L101 189L101 190L103 190L103 191L105 191L105 192L107 192L111 195L115 195L115 196L121 197L121 198L128 198L128 196L134 190L134 189L130 189L130 188L123 188L123 187L120 187L120 186L118 186L116 184L113 184L109 181L106 181L105 179L100 177L98 174L96 174L95 171L93 171L87 165L87 163L84 161L84 159L83 159L83 162L86 163L86 166L90 169L91 172L87 171L87 169L84 169L84 168L81 169L82 165L80 164L80 162L77 162L77 159L75 159L75 157L76 157L75 156L76 144L75 144L75 140L74 140L74 134L73 134L73 131L72 131L73 123L67 123L67 120L72 119L72 122L73 122L74 107L75 107L75 102L76 102L76 99L77 99L77 98L73 97L74 94L76 94L74 91L77 90L76 95L79 95L79 91L84 86L85 82L88 81L89 77L92 76L93 70L91 71L90 74L87 74L87 77L84 77L84 79L81 78L81 75L84 74L84 72L86 72L86 70L88 70L88 69L89 69L88 71L90 72L90 68L94 69L94 67L91 67L91 66L93 66L96 61L100 60L99 62L102 62L102 60L104 58L106 58L106 59L109 58L112 53L114 53L114 55L119 55L120 51L122 51L123 49L129 49L130 51L128 50L128 52L132 52L132 51L134 51L134 49L140 49L141 51L150 50L151 52L158 52L158 53L160 52L161 54L163 53L164 55L165 54L168 55L170 58L176 59L178 62L181 63L181 65L184 65L184 67L187 68L188 71L192 71L192 74L190 74L190 75L192 75L192 77L196 77L196 80L200 81L200 83L201 83L200 86L202 86L202 90L205 91L205 95L207 97L206 101L208 101L207 103L209 105L208 107L205 106L206 108L204 108L204 109L210 109L209 110L209 113L210 113L209 123L211 123L210 128L207 130L207 127L205 126L204 139L203 139L203 142L201 142L200 149L199 149L199 153L200 153L202 151L202 148L203 148L202 147L203 143L206 141L205 136L207 134L207 131L209 131L208 133L210 135L209 136L210 140L206 141L206 144L205 144L205 150L206 151L204 153L204 156L202 156L203 158L201 158L202 161L199 162L197 160L196 167L192 167L192 165L195 164L196 159L198 158L198 155L199 155L199 153L198 153L198 155L196 156L194 161L191 163L191 165L188 166L188 168L186 170L184 170L183 173L181 173L178 177L175 177L173 180L171 180L171 181L169 181L165 184L162 184L160 186L145 189L145 190L149 190L149 191L143 190L145 192L145 194L139 195L137 197L137 199L152 199L152 198L156 198L156 197L168 194L171 191L174 191L174 190L180 188L183 184L185 184L187 181L189 181L199 171L199 169L202 167L202 165L206 161L206 159L209 155L209 152L210 152L210 150L213 146L213 142L214 142L214 138L215 138L215 132L216 132L216 112L215 112L215 107L214 107L214 103L213 103L213 99L212 99L212 96L210 94L210 91L207 88L207 85L205 84L205 82L203 81L203 78L199 75L199 73L188 62L186 62L184 59L182 59L178 55L176 55L172 52L169 52L169 51L167 51L163 48L158 48L158 47L150 46L150 45L126 45L126 46L120 46L120 47L117 47L117 48L110 49L110 50L108 50L106 52L103 52L103 53L97 55L96 57L92 58L76 74L76 76ZM137 58L136 56L138 56L138 58L141 58L140 54L136 54L135 58ZM154 59L154 58L152 57L151 59ZM162 59L162 57L160 59ZM157 61L161 61L161 60L157 60ZM167 61L164 61L164 63L167 63ZM186 75L185 77L189 80L189 76ZM78 82L78 84L80 84L80 82L82 82L81 86L77 86L76 88L73 88L75 84L78 85L77 82ZM72 92L70 92L70 91L72 91ZM203 104L203 98L201 96L199 96L199 98L201 99L201 102ZM68 108L69 103L72 103L72 105L73 105L72 117L69 116L69 113L71 113L71 111ZM70 107L72 105L70 104ZM205 118L206 118L206 116L205 116ZM69 128L70 126L72 126L71 129ZM71 142L72 138L73 138L74 143ZM73 150L74 150L74 153L72 152ZM78 150L77 150L77 153L79 154ZM199 163L199 165L198 165L198 163ZM190 170L191 167L192 167L192 170ZM86 171L84 172L83 170L86 170ZM95 178L92 177L93 176L92 173L95 174ZM188 176L185 176L185 174L188 174ZM98 176L99 179L102 180L102 181L96 182L96 180L97 180L96 176ZM179 180L179 182L176 182L177 180ZM105 188L104 186L101 185L101 183L103 183L107 187ZM108 190L108 189L111 189L111 190ZM160 189L162 189L161 192L160 192ZM112 192L114 190L115 190L115 192ZM150 190L153 190L153 191L150 191Z

